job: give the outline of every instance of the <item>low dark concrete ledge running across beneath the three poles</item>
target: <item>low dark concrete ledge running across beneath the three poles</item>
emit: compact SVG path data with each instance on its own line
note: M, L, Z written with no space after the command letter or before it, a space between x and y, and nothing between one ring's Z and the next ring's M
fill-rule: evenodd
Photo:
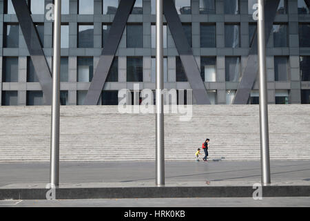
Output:
M252 186L145 186L59 188L56 199L251 198ZM0 189L0 200L46 200L48 189ZM263 186L262 197L310 197L310 186Z

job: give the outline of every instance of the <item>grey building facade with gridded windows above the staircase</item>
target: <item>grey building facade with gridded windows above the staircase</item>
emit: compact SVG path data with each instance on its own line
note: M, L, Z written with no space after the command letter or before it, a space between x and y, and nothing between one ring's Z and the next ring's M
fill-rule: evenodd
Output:
M2 106L46 104L48 75L44 78L44 73L52 73L53 1L25 1L28 10L15 10L20 0L0 0ZM118 104L118 90L134 90L134 84L141 90L155 90L156 0L134 1L125 28L120 23L114 25L114 30L122 31L118 42L117 33L111 30L121 1L62 0L61 104L85 104L95 73L106 72L98 104ZM256 0L163 1L173 1L183 28L174 30L178 23L165 14L165 88L191 89L196 82L203 82L211 104L234 104L242 80L257 73L250 59L256 44ZM266 51L269 104L310 104L309 8L309 0L280 0L267 19L271 27ZM172 8L165 13L170 11ZM265 13L271 10L266 8ZM35 33L27 32L31 26ZM113 37L109 39L110 32L115 42ZM183 52L186 47L180 46L178 35L186 37L188 53ZM117 50L109 54L109 63L103 51L114 44ZM194 57L194 62L185 55ZM195 75L196 71L200 75ZM258 104L258 81L249 90L244 104ZM194 103L199 104L195 98Z

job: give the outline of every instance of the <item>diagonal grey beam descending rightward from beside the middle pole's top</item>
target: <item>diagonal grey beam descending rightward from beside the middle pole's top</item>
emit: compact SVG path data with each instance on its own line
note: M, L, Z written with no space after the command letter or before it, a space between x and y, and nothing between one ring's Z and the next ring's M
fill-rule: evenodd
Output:
M172 33L176 49L183 63L187 80L193 89L193 95L196 98L197 104L211 104L207 95L205 84L200 77L200 70L194 59L192 48L189 46L182 23L176 12L173 0L163 1L163 12L166 17L169 30Z

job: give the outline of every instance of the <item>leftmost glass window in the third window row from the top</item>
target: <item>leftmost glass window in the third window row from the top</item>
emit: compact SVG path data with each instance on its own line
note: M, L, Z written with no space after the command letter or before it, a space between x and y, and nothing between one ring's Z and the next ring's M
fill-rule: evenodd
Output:
M19 59L17 57L3 57L2 61L2 81L19 81Z

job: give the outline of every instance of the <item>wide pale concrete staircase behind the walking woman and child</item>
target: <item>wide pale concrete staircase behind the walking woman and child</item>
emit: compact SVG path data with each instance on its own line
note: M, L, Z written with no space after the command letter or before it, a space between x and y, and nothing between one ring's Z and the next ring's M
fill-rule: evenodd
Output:
M260 160L257 105L193 106L192 119L165 115L165 160ZM50 106L0 107L0 162L50 160ZM117 106L61 106L61 161L155 160L155 115ZM310 105L269 105L271 160L310 160ZM202 151L203 153L203 151ZM203 155L202 155L203 156Z

